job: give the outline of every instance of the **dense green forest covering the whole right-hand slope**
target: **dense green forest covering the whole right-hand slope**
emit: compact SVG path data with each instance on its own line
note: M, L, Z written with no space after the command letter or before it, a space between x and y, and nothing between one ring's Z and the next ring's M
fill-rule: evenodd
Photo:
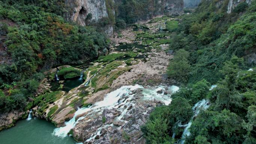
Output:
M248 61L256 52L256 1L240 3L230 14L228 0L219 4L203 0L171 37L175 55L167 73L183 86L141 128L147 144L176 143L184 131L178 124L191 120L201 99L210 107L193 119L185 144L256 143L256 72Z

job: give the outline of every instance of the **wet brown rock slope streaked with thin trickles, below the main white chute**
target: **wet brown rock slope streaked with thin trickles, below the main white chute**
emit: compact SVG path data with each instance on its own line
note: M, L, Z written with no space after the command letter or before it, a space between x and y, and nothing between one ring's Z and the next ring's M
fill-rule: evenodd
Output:
M140 127L146 123L150 112L163 102L142 98L142 89L136 89L122 95L116 108L104 108L102 114L83 114L85 117L73 128L73 137L83 144L144 144Z

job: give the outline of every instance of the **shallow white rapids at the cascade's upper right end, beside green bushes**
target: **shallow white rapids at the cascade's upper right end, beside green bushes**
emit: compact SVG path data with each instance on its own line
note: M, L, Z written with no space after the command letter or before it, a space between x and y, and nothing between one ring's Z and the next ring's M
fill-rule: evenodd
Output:
M153 88L145 88L143 89L143 99L144 100L153 100L153 99L156 99L156 100L159 100L159 101L162 101L164 102L165 105L168 105L171 103L171 94L177 92L179 90L179 87L177 86L170 86L168 87L168 94L164 94L164 91L165 91L165 86L158 86L156 89L153 89ZM158 93L158 91L162 91L161 94Z

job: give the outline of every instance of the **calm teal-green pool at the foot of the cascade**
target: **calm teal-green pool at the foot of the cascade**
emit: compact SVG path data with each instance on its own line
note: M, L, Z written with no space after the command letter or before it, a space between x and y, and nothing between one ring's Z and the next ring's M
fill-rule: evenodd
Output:
M19 120L12 128L0 131L0 144L76 144L72 137L53 135L54 128L42 119Z

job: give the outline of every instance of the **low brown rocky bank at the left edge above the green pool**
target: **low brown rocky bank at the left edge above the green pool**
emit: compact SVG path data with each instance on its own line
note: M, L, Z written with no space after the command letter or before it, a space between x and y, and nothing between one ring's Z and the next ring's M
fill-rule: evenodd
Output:
M13 123L20 119L25 114L24 111L11 111L0 115L0 131L4 128L9 128Z

